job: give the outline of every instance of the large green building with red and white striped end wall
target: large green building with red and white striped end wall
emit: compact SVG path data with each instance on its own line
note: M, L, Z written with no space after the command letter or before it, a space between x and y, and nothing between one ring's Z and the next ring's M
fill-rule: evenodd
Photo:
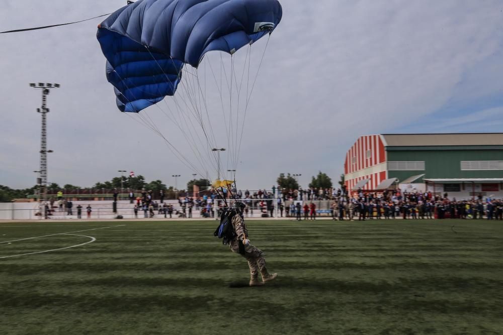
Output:
M503 133L362 136L344 168L350 190L503 197Z

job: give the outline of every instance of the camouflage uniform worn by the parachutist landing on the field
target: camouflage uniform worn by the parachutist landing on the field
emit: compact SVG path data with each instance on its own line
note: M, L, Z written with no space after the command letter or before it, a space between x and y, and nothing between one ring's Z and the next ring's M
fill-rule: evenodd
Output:
M236 231L237 238L230 242L230 250L236 254L239 254L239 241L248 238L248 230L246 229L243 218L239 214L236 214L232 217L232 226ZM266 260L264 259L262 250L252 245L247 245L244 247L245 253L242 256L248 261L251 281L258 280L259 271L262 275L263 281L271 278L272 275L267 272Z

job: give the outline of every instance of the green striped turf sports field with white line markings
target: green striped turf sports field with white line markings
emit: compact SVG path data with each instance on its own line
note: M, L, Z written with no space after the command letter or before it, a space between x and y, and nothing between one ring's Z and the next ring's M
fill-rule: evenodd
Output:
M0 243L0 334L503 333L501 221L247 226L279 275L263 287L229 287L248 267L215 221L0 224L85 231Z

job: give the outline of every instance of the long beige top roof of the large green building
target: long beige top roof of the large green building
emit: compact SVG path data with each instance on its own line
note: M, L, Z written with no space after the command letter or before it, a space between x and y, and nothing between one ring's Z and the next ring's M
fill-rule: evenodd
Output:
M481 146L503 145L503 133L383 134L384 146Z

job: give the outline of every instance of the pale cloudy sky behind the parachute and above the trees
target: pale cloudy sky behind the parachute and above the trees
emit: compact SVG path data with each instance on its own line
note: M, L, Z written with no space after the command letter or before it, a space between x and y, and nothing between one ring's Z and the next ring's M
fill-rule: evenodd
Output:
M221 169L237 170L238 188L270 188L280 173L301 174L305 187L318 171L337 183L347 150L362 135L501 132L502 0L280 2L281 23L269 41L266 37L251 47L256 72L265 52L246 108L240 155L236 158L238 150L230 149L222 153ZM122 0L4 0L0 31L78 21L124 5ZM48 96L48 149L54 150L48 158L49 182L92 186L119 176L118 170L167 185L175 185L172 175L180 174L179 188L193 173L214 179L211 156L198 156L186 141L188 133L177 133L177 124L166 117L173 98L145 109L143 119L117 109L96 39L103 19L0 34L0 184L35 184L41 93L29 87L31 82L61 84ZM247 50L233 56L236 64L246 59ZM205 62L214 61L219 69L218 57ZM236 65L236 78L238 68L243 67ZM203 78L202 68L197 71ZM218 81L208 75L208 81L213 79ZM227 128L218 85L205 84L214 144L235 146L222 135ZM238 106L234 102L233 110ZM236 111L242 117L240 108ZM184 164L144 127L141 120L149 117L184 157L197 163ZM240 129L236 134L240 137Z

